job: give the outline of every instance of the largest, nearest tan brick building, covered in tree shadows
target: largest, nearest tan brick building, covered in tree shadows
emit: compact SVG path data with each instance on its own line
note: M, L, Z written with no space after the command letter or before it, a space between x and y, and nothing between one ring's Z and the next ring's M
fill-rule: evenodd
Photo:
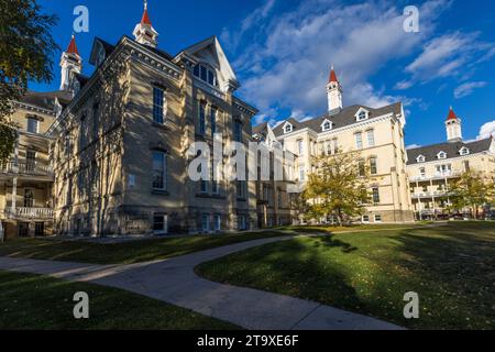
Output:
M59 234L197 233L256 227L254 182L193 182L193 142L251 141L256 110L217 37L170 55L157 47L147 9L116 45L95 40L91 77L63 56L74 99L51 128ZM65 63L66 61L67 63Z

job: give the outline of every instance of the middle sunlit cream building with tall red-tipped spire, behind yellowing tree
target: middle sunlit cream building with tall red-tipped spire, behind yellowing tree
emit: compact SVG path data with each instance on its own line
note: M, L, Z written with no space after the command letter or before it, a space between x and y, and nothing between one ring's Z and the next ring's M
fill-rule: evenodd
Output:
M369 186L373 204L366 206L362 221L413 221L403 105L378 109L358 105L344 108L342 87L333 67L327 95L324 114L304 122L289 118L273 129L284 150L297 155L296 179L304 184L308 174L316 170L315 156L358 151L372 174Z

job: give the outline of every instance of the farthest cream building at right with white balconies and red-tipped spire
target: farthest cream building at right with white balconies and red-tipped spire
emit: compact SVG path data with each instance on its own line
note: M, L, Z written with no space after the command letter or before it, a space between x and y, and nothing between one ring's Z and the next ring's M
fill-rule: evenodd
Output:
M495 142L492 138L464 142L462 121L450 108L447 142L407 151L407 173L416 218L447 219L452 216L450 185L464 172L475 170L495 179ZM462 213L460 215L462 216Z

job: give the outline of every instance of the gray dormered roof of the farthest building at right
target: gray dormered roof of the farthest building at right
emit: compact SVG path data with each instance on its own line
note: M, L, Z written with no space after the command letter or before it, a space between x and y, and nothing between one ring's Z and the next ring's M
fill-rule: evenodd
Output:
M486 140L480 140L475 142L444 142L439 144L432 144L421 147L415 147L407 151L407 156L409 161L407 162L407 165L415 165L415 164L421 164L418 163L417 158L418 156L422 155L425 156L425 162L433 162L438 161L437 155L440 152L447 153L447 158L453 158L461 156L459 153L463 146L468 147L470 150L470 154L476 154L481 152L486 152L490 150L490 146L492 145L492 139ZM443 161L443 160L442 160Z

